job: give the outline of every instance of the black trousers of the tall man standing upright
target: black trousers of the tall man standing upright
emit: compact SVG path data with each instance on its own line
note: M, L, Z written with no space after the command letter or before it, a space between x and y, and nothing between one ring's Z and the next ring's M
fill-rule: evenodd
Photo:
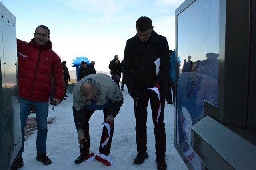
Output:
M166 87L165 87L166 88ZM164 123L164 101L165 101L165 88L162 90L163 92L160 92L160 103L161 103L161 112L158 119L158 122L155 119L155 113L157 109L157 103L158 101L155 100L155 98L152 98L150 96L149 92L145 96L148 96L148 99L150 100L151 110L152 110L152 117L153 117L153 123L154 123L154 135L155 135L155 147L156 147L156 156L159 158L165 157L166 152L166 134L165 134L165 123ZM137 143L137 151L138 155L144 154L147 150L147 106L148 106L148 100L145 100L144 98L138 97L137 99L134 99L134 114L136 118L136 143ZM137 106L136 106L137 104Z

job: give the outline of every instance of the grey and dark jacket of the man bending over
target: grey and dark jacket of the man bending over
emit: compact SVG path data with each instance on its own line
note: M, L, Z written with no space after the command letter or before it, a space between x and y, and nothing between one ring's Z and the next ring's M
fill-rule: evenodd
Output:
M94 100L97 101L97 105L104 105L110 102L108 108L108 115L113 119L118 114L120 107L123 104L123 94L116 85L116 83L106 74L90 74L82 78L73 88L73 115L76 124L76 129L80 132L83 129L85 122L84 114L85 105L90 105L91 101L86 101L80 95L80 86L86 80L93 80L96 82L99 92Z

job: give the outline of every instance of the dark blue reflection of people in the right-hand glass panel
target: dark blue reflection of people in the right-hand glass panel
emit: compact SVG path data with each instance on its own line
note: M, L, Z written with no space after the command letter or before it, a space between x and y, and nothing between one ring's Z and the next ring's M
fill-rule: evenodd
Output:
M177 113L178 134L180 149L188 160L194 157L189 149L188 136L186 135L186 124L184 110L190 115L192 125L203 117L204 100L217 105L218 99L218 54L207 53L207 59L196 61L192 65L191 72L183 72L178 80L177 90Z

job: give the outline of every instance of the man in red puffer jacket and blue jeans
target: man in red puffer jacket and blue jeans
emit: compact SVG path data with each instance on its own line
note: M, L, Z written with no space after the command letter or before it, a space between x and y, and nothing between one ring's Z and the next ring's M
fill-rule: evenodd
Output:
M20 120L22 147L11 169L23 166L24 127L30 106L34 105L37 122L36 159L44 165L51 164L46 155L47 117L49 97L52 90L52 78L55 84L53 102L58 105L64 98L64 72L60 57L52 51L49 40L50 30L44 25L36 28L34 38L28 43L17 39L18 82L20 96Z

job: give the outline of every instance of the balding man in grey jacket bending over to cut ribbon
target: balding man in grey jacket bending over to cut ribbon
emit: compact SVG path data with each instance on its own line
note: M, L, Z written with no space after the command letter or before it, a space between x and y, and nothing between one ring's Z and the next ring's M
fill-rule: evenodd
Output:
M80 155L75 160L75 163L83 162L90 153L89 120L96 110L103 110L104 122L110 128L109 134L107 127L103 127L99 148L100 154L104 154L103 157L110 159L108 155L114 133L114 118L123 103L122 92L112 78L106 74L90 74L76 83L73 88L72 108L78 132L77 139L80 144ZM108 141L106 141L106 136L109 137Z

